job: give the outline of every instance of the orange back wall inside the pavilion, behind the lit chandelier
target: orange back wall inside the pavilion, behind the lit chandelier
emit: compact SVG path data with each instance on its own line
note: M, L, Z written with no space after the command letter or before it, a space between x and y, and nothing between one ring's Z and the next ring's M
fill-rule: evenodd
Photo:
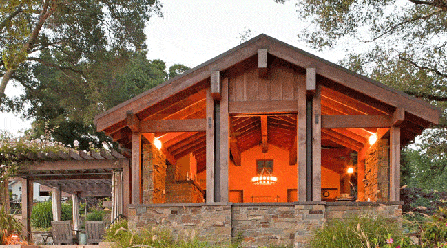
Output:
M287 202L287 189L297 188L296 165L289 165L289 151L269 144L265 159L273 159L273 174L278 177L275 185L253 185L251 177L256 176L256 160L264 159L261 146L255 146L241 153L241 166L229 165L229 190L244 190L244 202L251 202L251 196L279 196L278 202ZM231 194L230 194L231 196ZM231 199L230 199L231 201Z

